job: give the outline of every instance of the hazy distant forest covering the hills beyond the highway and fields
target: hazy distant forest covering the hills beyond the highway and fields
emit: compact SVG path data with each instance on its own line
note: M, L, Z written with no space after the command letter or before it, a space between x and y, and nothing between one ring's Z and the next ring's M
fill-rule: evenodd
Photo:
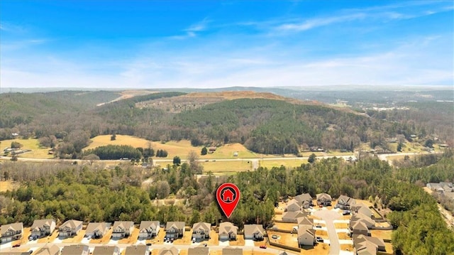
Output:
M392 151L389 139L452 142L452 107L441 113L429 102L409 111L355 113L321 104L294 104L271 99L233 99L175 113L177 107L136 106L182 92L160 92L96 105L118 96L115 92L52 92L0 94L0 140L13 133L36 137L55 146L60 158L82 158L82 149L101 134L126 134L150 141L188 139L194 145L243 143L267 154L299 154L311 147L353 151L360 143ZM171 102L171 101L170 101ZM416 120L421 120L421 122ZM451 131L451 133L450 133ZM435 139L436 138L436 139Z

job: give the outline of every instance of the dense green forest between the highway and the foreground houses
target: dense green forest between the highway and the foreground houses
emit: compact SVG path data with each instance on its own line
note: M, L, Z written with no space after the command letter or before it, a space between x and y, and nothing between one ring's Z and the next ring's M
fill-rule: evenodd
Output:
M328 192L333 197L348 195L372 201L397 229L392 237L399 254L448 254L454 250L454 232L448 229L436 207L436 200L416 181L454 181L454 158L445 153L432 166L394 169L377 158L346 163L329 158L297 168L258 168L228 178L210 173L196 178L197 161L167 168L145 170L131 165L104 169L98 166L52 166L4 163L0 176L25 183L0 194L0 224L55 217L89 221L119 219L204 220L216 224L221 212L214 201L216 187L225 181L242 191L240 204L229 219L239 227L272 222L275 202L309 192L313 197ZM32 170L33 169L33 170ZM415 178L409 180L409 176ZM419 173L419 174L418 174ZM152 180L143 186L144 179ZM417 179L417 180L416 180ZM180 206L157 206L155 199L175 197ZM13 199L11 199L13 198ZM95 204L93 201L97 201ZM430 234L429 234L430 233Z

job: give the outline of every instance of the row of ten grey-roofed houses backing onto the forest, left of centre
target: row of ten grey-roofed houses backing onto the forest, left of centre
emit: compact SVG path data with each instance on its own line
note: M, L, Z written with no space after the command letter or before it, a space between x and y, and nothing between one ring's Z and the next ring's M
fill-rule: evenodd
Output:
M59 237L72 237L82 230L82 223L78 220L68 220L58 228ZM114 239L129 237L135 228L134 222L117 221L112 227L112 236ZM111 229L111 223L108 222L89 222L85 230L85 236L94 239L102 238ZM165 237L168 239L179 239L183 237L185 222L167 222L165 226ZM45 237L55 230L54 219L37 219L31 227L31 237ZM192 238L197 242L209 239L211 224L207 222L198 222L192 225ZM22 239L23 224L13 223L1 226L1 242L11 242ZM150 239L160 232L160 222L158 221L143 221L140 222L139 238ZM222 222L219 224L219 239L235 240L238 233L238 227L231 222ZM244 226L245 239L261 240L263 239L264 229L262 225L246 224Z

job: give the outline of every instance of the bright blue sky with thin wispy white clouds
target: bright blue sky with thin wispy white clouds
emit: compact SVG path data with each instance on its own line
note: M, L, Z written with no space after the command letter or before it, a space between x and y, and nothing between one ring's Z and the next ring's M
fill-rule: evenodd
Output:
M1 87L450 85L453 1L0 1Z

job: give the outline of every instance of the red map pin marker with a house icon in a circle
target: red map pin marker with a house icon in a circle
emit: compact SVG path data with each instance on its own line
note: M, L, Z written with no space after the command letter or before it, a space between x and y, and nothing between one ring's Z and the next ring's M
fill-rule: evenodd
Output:
M240 189L233 183L223 183L216 190L216 199L224 215L230 218L236 205L238 205L238 201L240 201Z

